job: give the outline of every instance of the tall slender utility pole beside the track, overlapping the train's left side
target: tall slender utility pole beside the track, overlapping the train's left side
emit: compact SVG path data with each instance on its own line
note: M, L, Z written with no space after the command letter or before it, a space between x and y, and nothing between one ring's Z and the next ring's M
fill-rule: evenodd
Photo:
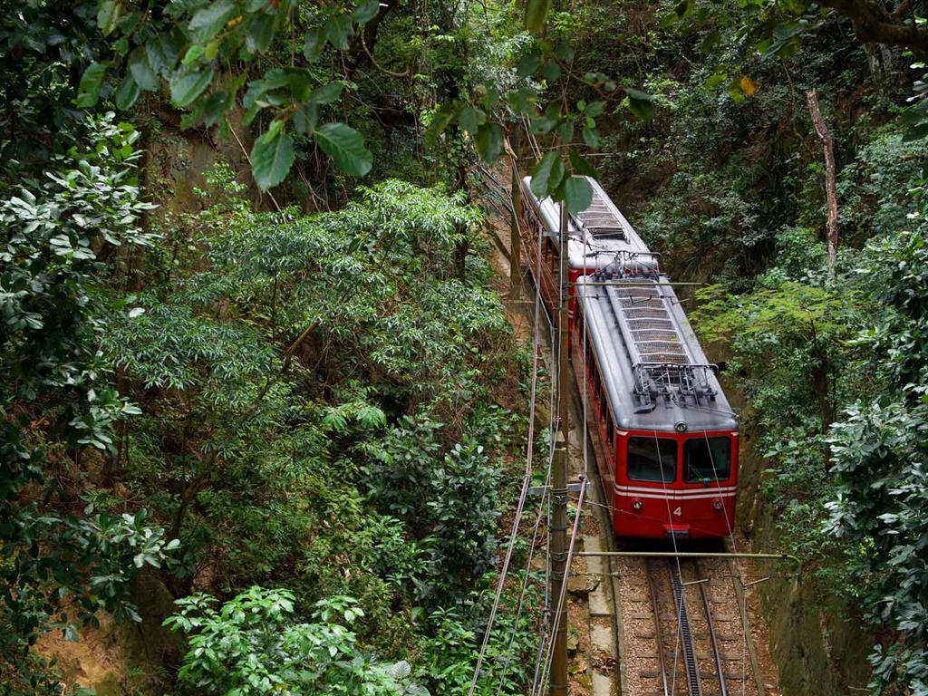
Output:
M561 303L558 307L558 415L561 417L561 432L554 448L551 471L551 529L548 542L551 552L551 594L556 630L553 636L550 696L567 696L567 599L564 583L567 576L567 432L568 380L570 334L568 331L570 292L570 265L567 263L567 206L561 203L560 234L560 277ZM561 602L561 597L564 600Z

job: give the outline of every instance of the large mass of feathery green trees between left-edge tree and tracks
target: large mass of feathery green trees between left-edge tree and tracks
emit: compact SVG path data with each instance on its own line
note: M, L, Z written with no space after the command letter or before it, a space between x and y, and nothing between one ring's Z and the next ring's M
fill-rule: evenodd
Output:
M419 603L486 591L513 419L492 402L520 371L479 219L398 181L337 213L225 200L187 218L193 258L102 342L144 410L119 473L173 520L185 583L207 568L214 592L347 594L359 640L410 658Z

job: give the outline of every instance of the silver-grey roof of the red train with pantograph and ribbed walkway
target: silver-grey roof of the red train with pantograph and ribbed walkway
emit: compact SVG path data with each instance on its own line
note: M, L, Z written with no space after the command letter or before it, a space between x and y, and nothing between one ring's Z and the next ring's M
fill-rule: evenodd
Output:
M589 208L568 218L568 263L591 275L576 282L587 341L620 429L656 432L736 431L702 346L683 314L669 278L599 182ZM542 234L558 241L561 205L538 199L532 178L522 189L541 216ZM581 385L583 388L583 385Z

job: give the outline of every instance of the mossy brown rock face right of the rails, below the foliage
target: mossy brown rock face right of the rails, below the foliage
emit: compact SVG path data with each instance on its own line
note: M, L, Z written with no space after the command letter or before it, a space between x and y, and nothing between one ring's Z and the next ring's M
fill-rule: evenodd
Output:
M780 547L777 510L760 494L765 467L750 439L742 436L738 524L751 537L755 552L775 553ZM876 640L861 630L842 602L823 602L816 589L812 582L781 577L758 586L780 689L784 696L866 693L867 656Z

